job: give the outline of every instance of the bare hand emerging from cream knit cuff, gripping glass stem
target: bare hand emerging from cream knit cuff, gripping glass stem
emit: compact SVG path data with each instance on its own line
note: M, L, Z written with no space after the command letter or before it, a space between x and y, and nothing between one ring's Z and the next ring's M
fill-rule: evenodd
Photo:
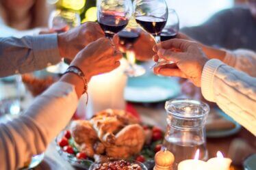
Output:
M171 50L173 48L181 52L173 52ZM153 51L157 53L157 57L175 63L154 68L155 74L190 79L194 85L201 87L201 74L208 59L199 44L173 39L157 44L153 47Z

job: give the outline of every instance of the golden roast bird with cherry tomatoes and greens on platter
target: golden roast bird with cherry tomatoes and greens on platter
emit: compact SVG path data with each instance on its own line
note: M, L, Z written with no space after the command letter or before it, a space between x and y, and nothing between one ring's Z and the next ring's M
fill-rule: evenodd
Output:
M103 162L107 158L153 160L161 150L164 133L155 126L141 124L126 111L107 109L90 120L76 120L58 141L61 150L76 156Z

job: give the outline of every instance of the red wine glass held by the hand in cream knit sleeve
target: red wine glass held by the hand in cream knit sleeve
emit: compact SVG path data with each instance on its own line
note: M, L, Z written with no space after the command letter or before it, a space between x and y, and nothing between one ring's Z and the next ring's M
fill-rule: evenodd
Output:
M133 1L136 22L160 42L160 33L168 18L168 8L164 0L135 0Z

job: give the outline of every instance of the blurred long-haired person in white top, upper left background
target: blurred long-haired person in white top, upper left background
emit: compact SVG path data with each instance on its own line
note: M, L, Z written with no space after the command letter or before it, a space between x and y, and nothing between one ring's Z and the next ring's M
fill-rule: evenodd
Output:
M38 34L52 8L46 0L0 0L0 37Z

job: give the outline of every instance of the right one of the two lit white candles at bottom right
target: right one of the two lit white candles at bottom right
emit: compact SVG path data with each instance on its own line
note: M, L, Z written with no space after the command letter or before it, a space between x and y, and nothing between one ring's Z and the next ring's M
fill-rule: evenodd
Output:
M224 158L220 151L217 152L216 158L211 158L207 161L209 170L229 170L232 160Z

